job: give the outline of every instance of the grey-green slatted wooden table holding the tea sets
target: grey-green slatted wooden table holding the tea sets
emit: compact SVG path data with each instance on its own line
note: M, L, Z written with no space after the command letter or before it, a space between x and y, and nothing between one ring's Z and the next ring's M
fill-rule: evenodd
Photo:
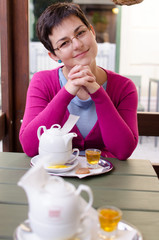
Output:
M95 208L111 204L122 209L123 219L135 225L144 240L159 239L159 180L148 160L108 159L114 169L84 179L65 178L76 187L87 184L94 195ZM15 228L27 219L25 192L17 186L30 168L24 153L0 153L0 239L13 239Z

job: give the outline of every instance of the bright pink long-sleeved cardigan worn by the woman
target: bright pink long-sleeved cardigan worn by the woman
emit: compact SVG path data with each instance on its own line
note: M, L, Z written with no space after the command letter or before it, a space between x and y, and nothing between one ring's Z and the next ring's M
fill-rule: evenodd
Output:
M66 122L68 104L74 98L65 87L60 87L58 69L34 74L27 92L25 114L20 129L20 142L24 152L33 157L38 154L37 129ZM91 94L98 120L90 133L83 138L77 126L71 132L73 147L79 150L99 148L102 156L127 159L138 142L137 91L134 83L123 76L105 70L107 89L100 87ZM91 116L90 116L91 117Z

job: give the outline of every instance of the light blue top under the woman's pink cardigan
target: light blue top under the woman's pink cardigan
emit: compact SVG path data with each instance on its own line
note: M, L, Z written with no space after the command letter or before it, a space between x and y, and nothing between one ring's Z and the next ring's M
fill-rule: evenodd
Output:
M62 68L59 68L59 79L60 85L63 87L67 83L67 80L63 75ZM106 85L107 82L103 84L103 88L105 90ZM91 97L89 97L87 100L81 100L79 97L75 96L69 103L68 110L70 114L80 116L76 125L82 136L85 138L97 121L97 113L94 101L91 99Z

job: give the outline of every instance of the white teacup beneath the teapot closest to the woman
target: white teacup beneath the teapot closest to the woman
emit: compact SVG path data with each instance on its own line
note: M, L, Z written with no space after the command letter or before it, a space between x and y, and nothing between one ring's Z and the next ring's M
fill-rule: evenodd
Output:
M74 156L73 153L76 152ZM39 148L39 156L43 158L44 165L57 165L71 163L79 156L79 149L73 148L67 152L46 152Z

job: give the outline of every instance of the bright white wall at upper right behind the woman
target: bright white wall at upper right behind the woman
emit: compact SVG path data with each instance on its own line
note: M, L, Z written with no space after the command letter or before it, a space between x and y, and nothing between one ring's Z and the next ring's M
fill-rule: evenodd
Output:
M119 72L142 76L142 102L147 107L149 78L159 79L159 1L144 0L121 9ZM152 87L155 101L155 84Z

